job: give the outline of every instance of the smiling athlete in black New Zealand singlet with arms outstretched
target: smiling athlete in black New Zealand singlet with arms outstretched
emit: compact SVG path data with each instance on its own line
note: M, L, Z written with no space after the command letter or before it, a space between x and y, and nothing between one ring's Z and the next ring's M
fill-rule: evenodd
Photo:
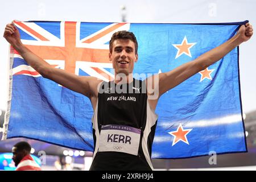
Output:
M6 25L3 36L40 75L90 99L94 110L90 170L152 170L151 147L158 118L155 108L160 96L216 63L252 35L253 27L246 23L231 39L195 60L140 81L133 78L138 61L134 34L115 32L109 43L109 61L115 72L110 82L52 68L22 44L14 23Z

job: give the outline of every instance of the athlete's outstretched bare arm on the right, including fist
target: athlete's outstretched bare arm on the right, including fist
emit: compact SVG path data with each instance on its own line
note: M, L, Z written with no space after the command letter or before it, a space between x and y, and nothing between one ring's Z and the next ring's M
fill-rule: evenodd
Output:
M187 80L189 77L195 75L196 73L206 69L209 65L216 63L218 60L222 59L227 53L232 51L232 49L239 46L242 42L246 42L253 35L253 27L246 23L241 26L237 34L234 35L227 42L221 44L220 46L204 53L203 55L197 57L193 61L189 61L179 67L173 69L170 72L159 74L159 97L167 92L168 90L179 85L181 82Z

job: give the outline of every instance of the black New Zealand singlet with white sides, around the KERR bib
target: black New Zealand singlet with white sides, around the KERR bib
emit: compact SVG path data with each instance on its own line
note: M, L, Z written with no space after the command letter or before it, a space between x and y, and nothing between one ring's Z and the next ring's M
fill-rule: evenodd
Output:
M120 93L120 89L127 92ZM152 170L151 147L157 118L148 104L144 81L133 79L130 84L123 85L102 82L92 118L94 153L90 170ZM101 127L106 125L140 129L138 155L98 151Z

